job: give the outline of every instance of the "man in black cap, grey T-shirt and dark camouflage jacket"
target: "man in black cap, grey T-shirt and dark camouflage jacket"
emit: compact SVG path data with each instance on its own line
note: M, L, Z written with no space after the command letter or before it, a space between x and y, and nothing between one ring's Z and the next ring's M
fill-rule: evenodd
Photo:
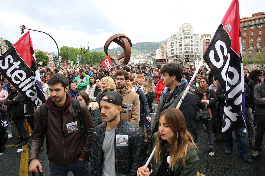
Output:
M119 93L103 94L100 108L104 123L93 131L90 175L136 175L145 158L140 128L120 117L125 107Z

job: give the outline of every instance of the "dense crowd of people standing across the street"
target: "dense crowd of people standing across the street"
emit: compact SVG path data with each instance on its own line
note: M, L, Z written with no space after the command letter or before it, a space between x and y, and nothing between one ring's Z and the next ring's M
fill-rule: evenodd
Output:
M243 69L246 127L234 132L240 156L253 163L244 133L254 149L252 158L259 157L265 131L264 75L261 67L249 71L244 65ZM8 110L8 138L13 138L13 121L19 134L15 145L28 144L30 148L31 172L37 172L37 167L42 171L38 155L44 149L45 136L50 175L69 171L103 176L197 175L201 131L207 133L208 146L200 148L207 147L210 156L218 141L225 142L224 153L229 155L233 138L232 133L221 136L225 94L206 65L201 66L180 108L175 109L195 70L193 65L177 63L159 68L124 65L110 70L95 65L42 68L46 113L41 107L34 111L27 97L1 75L0 103ZM74 105L75 99L78 105ZM25 118L33 131L31 143ZM145 168L155 146L151 165Z

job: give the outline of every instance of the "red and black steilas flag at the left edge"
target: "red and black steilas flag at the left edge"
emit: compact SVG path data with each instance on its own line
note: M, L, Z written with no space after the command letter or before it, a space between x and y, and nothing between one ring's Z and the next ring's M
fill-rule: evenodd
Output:
M0 57L0 72L35 107L45 102L29 31Z

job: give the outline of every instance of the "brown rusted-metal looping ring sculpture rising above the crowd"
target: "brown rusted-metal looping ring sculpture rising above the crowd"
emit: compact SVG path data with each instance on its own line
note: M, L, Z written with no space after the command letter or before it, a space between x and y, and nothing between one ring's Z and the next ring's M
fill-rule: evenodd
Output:
M108 56L108 47L110 45L111 42L115 42L118 45L120 45L120 47L122 47L122 49L124 50L123 53L121 53L120 55L117 56L110 56L111 60L114 60L116 65L127 65L130 61L130 56L131 56L131 46L132 46L132 42L131 40L124 34L115 34L112 35L105 43L104 45L104 52L105 54ZM120 63L119 60L124 58L123 62Z

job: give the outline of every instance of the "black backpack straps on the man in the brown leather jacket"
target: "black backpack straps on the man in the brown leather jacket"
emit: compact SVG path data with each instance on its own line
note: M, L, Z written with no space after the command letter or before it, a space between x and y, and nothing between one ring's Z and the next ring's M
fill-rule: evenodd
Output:
M85 125L83 121L83 113L80 108L79 100L78 99L73 99L72 100L72 106L74 108L74 119L77 118L79 119L81 123L81 131L82 134L85 136ZM44 134L46 138L46 147L48 146L48 138L47 138L47 118L48 118L48 108L45 106L45 103L41 104L39 106L39 113L41 117L41 122L42 122L42 133ZM48 153L48 150L47 150Z

